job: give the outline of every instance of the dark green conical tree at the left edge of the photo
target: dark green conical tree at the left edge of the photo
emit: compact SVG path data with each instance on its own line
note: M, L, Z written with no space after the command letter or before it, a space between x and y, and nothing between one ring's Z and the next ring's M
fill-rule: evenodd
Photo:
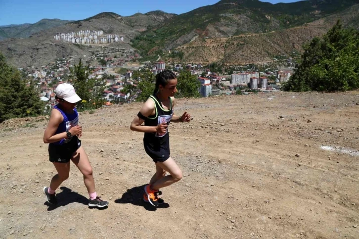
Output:
M35 82L21 77L0 52L0 123L16 117L37 116L44 110Z

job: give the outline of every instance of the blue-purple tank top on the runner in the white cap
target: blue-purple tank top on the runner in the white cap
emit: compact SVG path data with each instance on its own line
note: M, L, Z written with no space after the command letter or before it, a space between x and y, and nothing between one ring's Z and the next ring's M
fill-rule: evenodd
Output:
M66 113L66 112L62 111L62 109L58 106L58 104L56 104L53 108L60 111L60 113L64 117L64 120L57 127L55 135L66 132L66 131L70 130L71 127L79 124L79 113L77 112L76 108L74 108L74 111L72 113ZM62 140L54 142L52 144L61 145L64 143L68 143L69 141L71 141L71 139L72 139L72 137L69 139L62 139Z

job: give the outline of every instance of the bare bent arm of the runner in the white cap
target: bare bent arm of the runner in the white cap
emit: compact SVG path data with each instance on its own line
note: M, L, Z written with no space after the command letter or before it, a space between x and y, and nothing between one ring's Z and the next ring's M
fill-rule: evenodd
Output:
M51 111L50 120L48 121L44 133L44 143L54 143L67 138L66 132L54 135L56 133L58 126L63 120L64 117L58 110L53 109ZM72 136L79 135L82 133L82 127L79 125L71 127L69 132L71 133Z

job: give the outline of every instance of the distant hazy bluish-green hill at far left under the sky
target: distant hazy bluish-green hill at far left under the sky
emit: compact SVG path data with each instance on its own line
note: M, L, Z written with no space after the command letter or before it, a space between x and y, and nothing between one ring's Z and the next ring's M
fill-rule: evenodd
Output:
M28 38L50 28L62 26L70 21L60 19L42 19L34 24L0 26L0 41L8 38Z

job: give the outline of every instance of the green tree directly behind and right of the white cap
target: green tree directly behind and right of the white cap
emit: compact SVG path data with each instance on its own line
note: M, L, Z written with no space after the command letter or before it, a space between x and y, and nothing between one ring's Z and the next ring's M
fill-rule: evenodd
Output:
M104 103L101 98L105 86L104 81L95 77L89 79L90 68L88 65L84 66L81 59L78 65L70 68L70 72L69 78L74 84L76 94L82 99L77 103L77 108L81 111L101 107Z

